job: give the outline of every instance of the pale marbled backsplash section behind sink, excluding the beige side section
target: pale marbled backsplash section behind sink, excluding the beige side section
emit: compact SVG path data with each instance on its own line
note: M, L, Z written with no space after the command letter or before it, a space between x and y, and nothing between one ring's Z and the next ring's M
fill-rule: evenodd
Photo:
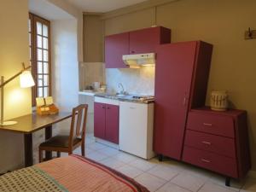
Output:
M154 96L154 67L106 69L108 93L119 92L118 84L124 85L129 94Z

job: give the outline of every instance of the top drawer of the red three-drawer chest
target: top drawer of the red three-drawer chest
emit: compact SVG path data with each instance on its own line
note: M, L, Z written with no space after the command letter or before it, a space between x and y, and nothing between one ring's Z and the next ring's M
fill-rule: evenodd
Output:
M218 136L235 137L233 119L224 115L190 112L187 129Z

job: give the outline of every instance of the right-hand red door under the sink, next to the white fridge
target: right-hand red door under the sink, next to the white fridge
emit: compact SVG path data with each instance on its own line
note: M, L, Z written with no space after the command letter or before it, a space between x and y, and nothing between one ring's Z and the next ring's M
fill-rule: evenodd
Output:
M106 133L105 139L119 144L119 106L106 105Z

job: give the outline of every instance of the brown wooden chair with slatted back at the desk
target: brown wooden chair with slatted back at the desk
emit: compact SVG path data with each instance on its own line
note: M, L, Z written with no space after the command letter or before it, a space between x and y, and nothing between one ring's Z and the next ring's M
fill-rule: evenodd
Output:
M73 150L79 146L81 146L81 152L84 156L87 110L87 104L79 105L77 108L73 108L69 136L55 136L49 138L49 140L46 142L41 143L39 145L39 162L43 161L43 151L56 151L57 157L60 157L61 152L73 154Z

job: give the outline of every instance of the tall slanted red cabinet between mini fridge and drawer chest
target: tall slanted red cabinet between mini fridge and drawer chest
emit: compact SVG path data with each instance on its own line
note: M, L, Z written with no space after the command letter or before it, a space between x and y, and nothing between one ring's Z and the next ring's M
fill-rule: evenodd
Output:
M181 160L189 109L205 104L212 45L163 44L156 54L154 152Z

